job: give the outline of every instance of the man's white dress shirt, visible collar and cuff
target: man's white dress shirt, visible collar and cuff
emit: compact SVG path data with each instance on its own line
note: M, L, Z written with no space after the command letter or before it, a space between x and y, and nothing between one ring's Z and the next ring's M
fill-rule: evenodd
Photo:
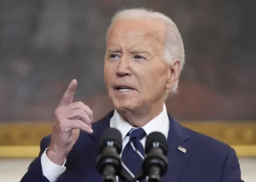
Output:
M122 138L123 138L123 150L124 147L129 142L129 136L127 136L127 133L129 130L131 130L132 125L126 122L120 114L115 110L113 117L110 119L110 127L115 127L121 132ZM162 112L152 119L150 122L148 122L146 125L142 127L146 135L148 135L151 132L162 132L163 135L167 138L167 134L169 131L169 118L166 111L166 106L164 104ZM143 144L143 147L145 147L146 143L146 136L140 140L140 142ZM42 174L48 178L50 182L55 182L59 178L59 176L64 173L66 170L66 167L64 166L66 161L62 166L56 165L53 162L48 159L46 155L47 149L45 149L45 152L42 154L41 157L41 164L42 164Z

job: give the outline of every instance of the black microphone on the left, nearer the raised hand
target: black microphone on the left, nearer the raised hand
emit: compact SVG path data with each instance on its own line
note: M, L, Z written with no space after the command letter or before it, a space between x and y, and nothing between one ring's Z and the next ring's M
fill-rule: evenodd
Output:
M121 132L110 127L105 129L99 141L97 158L97 170L102 175L103 182L116 182L116 175L124 181L132 181L132 177L122 170L121 149Z

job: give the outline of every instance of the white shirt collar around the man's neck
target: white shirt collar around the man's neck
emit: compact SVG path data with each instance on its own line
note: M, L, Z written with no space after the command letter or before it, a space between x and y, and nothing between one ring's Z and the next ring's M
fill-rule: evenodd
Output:
M123 140L129 130L133 128L132 125L129 124L129 122L126 122L121 117L121 115L118 114L118 111L116 111L116 109L112 118L110 119L110 127L115 127L116 129L118 129L121 132ZM165 137L167 138L169 130L169 118L167 115L165 103L162 112L150 122L145 124L142 128L145 130L147 135L151 132L162 132L162 134L165 135Z

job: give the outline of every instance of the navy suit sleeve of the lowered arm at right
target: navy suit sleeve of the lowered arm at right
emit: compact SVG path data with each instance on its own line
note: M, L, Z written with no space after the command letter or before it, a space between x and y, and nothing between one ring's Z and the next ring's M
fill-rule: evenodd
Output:
M241 180L241 169L236 151L232 148L228 151L222 170L222 182L244 182Z

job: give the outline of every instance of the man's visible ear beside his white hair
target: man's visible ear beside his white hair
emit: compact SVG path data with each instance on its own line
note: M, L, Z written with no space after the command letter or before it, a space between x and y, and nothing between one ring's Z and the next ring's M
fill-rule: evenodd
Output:
M181 74L181 60L173 60L173 63L169 66L169 74L166 83L166 89L170 90L176 82L178 82L178 77Z

